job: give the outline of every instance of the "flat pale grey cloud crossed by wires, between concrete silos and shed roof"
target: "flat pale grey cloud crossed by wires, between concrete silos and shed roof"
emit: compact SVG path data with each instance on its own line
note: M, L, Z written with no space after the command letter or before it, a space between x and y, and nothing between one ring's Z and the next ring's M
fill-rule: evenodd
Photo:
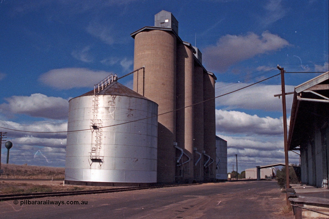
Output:
M237 83L227 84L218 82L215 84L216 96L245 87L250 84ZM286 85L286 92L294 91L294 86ZM282 99L274 97L280 94L281 85L263 85L257 84L242 90L216 98L217 107L225 109L262 109L266 111L281 111ZM292 106L293 94L286 95L287 112L290 113Z

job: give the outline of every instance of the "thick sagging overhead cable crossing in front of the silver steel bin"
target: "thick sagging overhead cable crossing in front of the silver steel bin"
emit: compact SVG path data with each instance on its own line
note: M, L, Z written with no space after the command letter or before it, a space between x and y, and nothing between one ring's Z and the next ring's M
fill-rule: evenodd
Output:
M222 97L222 96L225 96L225 95L227 95L227 94L234 93L234 92L236 92L236 91L242 90L242 89L247 88L247 87L250 87L250 86L252 86L252 85L256 85L256 84L258 84L258 83L261 83L261 82L263 82L263 81L266 81L266 80L268 80L268 79L270 79L270 78L273 78L273 77L275 77L275 76L278 76L278 75L280 75L280 73L279 73L279 74L276 74L276 75L273 75L273 76L271 76L271 77L269 77L269 78L263 79L263 80L261 80L261 81L259 81L259 82L253 83L253 84L251 84L251 85L244 86L244 87L242 87L242 88L240 88L240 89L237 89L237 90L234 90L234 91L231 91L231 92L228 92L228 93L225 93L225 94L222 94L222 95L219 95L219 96L216 96L216 97L213 97L213 98L210 98L210 99L208 99L208 100L204 100L204 101L201 101L201 102L198 102L198 103L195 103L195 104L191 104L191 105L186 106L186 107L182 107L182 108L179 108L179 109L174 109L174 110L171 110L171 111L168 111L168 112L164 112L164 113L161 113L161 114L158 114L158 115L154 115L154 116L149 116L149 117L142 118L142 119L137 119L137 120L134 120L134 121L123 122L123 123L114 124L114 125L110 125L110 126L103 126L102 128L107 128L107 127L112 127L112 126L117 126L117 125L123 125L123 124L131 123L131 122L137 122L137 121L140 121L140 120L149 119L149 118L152 118L152 117L155 117L155 116L164 115L164 114L167 114L167 113L170 113L170 112L174 112L174 111L177 111L177 110L185 109L185 108L188 108L188 107L191 107L191 106L194 106L194 105L200 104L200 103L204 103L204 102L207 102L207 101L210 101L210 100L214 100L214 99L216 99L216 98L218 98L218 97ZM81 129L81 130L61 131L61 132L34 132L34 131L24 131L24 130L9 129L9 128L5 128L5 127L1 127L1 126L0 126L0 128L7 129L7 130L12 130L12 131L17 131L17 132L28 132L28 133L68 133L68 132L81 132L81 131L87 131L87 130L90 130L90 129Z

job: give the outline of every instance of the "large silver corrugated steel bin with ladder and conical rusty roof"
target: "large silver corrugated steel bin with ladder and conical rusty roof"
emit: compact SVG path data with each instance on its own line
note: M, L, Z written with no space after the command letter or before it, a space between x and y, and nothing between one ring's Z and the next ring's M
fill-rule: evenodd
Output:
M115 79L69 101L65 183L157 182L158 105Z

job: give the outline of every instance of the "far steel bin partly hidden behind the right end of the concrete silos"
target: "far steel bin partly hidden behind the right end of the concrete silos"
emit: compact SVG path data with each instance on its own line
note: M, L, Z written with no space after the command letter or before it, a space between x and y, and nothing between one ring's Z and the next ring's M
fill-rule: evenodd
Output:
M227 180L227 141L216 136L216 180Z

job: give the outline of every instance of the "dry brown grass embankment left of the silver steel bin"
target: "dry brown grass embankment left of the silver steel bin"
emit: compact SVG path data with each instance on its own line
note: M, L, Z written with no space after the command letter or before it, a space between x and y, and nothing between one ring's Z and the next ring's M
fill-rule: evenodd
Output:
M63 180L65 168L1 164L4 173L0 179L54 179Z

